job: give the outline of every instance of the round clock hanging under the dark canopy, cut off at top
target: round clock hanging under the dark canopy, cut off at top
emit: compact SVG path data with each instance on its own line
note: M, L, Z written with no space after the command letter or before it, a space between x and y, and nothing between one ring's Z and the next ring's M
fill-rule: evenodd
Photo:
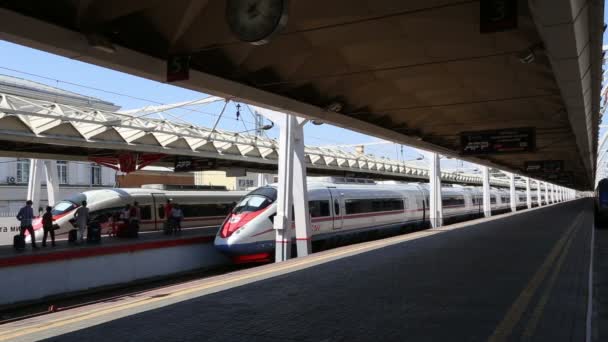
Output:
M226 20L232 32L244 42L268 43L287 24L288 0L228 0Z

